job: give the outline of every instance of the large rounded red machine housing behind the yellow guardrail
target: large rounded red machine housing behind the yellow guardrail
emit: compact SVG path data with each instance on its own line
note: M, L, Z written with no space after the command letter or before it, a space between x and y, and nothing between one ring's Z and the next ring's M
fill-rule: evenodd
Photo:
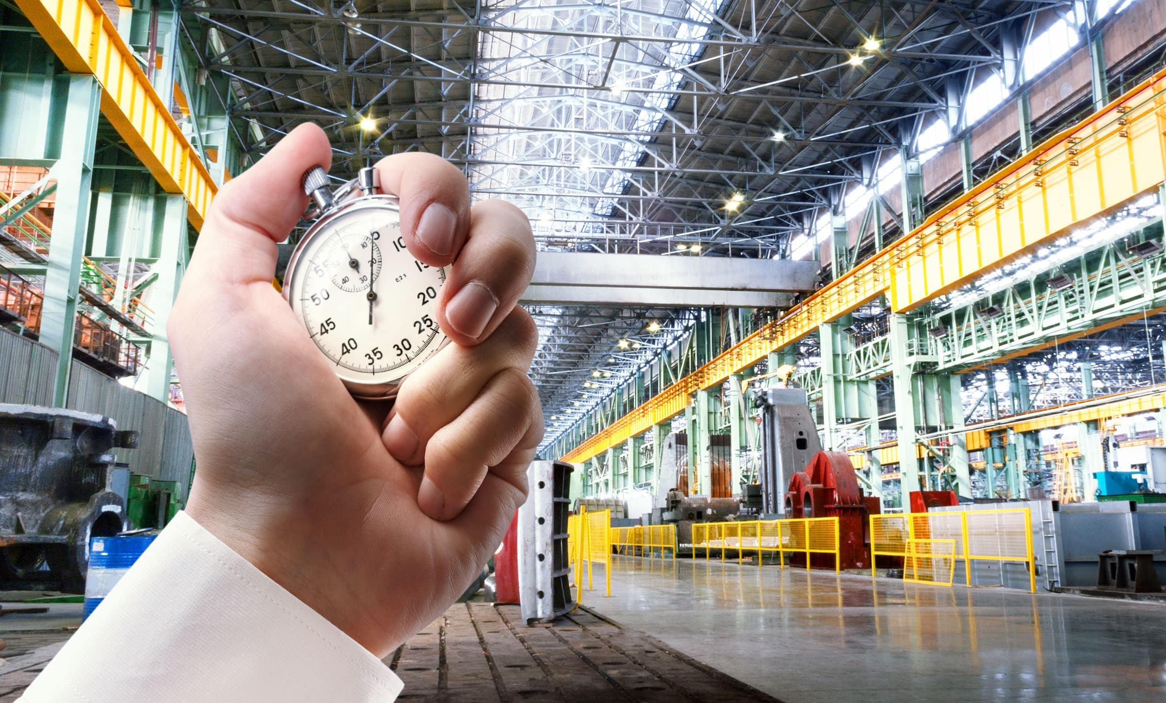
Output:
M787 518L838 519L838 557L843 569L870 568L870 515L880 512L879 499L863 495L850 457L841 451L814 455L806 469L793 474L786 491ZM794 563L805 560L796 553L793 555ZM810 555L810 565L834 568L834 557Z

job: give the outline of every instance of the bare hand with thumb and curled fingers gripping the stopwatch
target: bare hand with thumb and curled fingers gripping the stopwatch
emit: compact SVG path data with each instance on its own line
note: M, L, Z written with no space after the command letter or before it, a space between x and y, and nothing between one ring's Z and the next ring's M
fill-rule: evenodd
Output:
M300 174L330 154L300 126L208 213L168 325L198 459L187 512L382 656L461 595L525 500L542 412L526 375L538 335L515 302L534 240L512 205L471 209L435 156L378 164L409 252L457 260L437 312L452 343L385 427L385 403L353 401L271 283L307 203Z

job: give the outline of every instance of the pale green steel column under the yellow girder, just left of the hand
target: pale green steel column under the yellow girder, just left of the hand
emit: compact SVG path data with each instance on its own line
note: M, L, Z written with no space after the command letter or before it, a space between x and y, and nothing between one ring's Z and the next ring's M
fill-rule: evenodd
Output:
M152 286L150 307L154 309L153 342L150 342L149 368L146 393L167 402L170 398L170 339L166 333L166 321L170 317L174 297L187 268L187 199L181 195L159 196L163 201L161 247L154 270L157 281Z

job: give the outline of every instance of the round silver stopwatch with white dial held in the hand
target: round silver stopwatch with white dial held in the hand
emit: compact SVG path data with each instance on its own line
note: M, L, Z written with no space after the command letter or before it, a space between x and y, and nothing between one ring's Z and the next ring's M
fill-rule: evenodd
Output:
M283 297L356 398L396 396L401 382L445 344L437 291L445 269L405 247L395 197L377 169L332 190L328 174L303 175L312 222L288 260Z

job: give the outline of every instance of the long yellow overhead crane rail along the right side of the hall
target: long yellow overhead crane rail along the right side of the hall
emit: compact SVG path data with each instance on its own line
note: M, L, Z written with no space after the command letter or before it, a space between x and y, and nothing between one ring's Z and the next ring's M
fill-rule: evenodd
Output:
M1166 181L1166 69L1051 136L922 225L627 415L563 461L584 462L683 412L696 391L880 295L906 312Z

